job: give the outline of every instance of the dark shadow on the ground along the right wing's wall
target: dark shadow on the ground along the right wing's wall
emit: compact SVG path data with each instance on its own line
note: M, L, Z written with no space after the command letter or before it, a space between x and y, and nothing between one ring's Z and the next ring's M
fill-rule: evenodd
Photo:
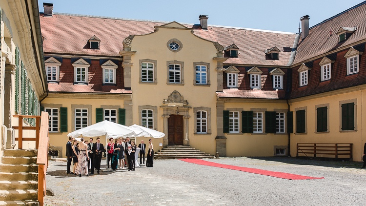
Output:
M273 162L281 162L286 164L294 165L316 165L316 166L329 166L334 168L362 168L362 162L352 162L352 161L321 161L321 160L311 160L311 159L299 159L294 157L248 157L248 159L265 160Z

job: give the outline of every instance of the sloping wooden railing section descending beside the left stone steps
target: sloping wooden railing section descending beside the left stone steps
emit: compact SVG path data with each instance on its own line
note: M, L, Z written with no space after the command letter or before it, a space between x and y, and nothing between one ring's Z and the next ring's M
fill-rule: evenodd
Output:
M44 204L46 195L46 172L48 167L48 112L41 113L40 142L38 147L38 202L40 206Z

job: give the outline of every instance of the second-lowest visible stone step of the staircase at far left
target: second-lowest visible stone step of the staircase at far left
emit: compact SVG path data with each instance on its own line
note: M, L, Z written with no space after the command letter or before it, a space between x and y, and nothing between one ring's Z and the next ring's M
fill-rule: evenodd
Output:
M2 201L37 200L38 193L35 189L0 190L0 199Z

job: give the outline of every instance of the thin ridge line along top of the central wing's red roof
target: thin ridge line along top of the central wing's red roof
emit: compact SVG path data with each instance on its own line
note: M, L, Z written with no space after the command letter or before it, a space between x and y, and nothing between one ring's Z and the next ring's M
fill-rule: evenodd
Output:
M42 13L42 12L40 12ZM69 14L69 13L59 13L54 12L54 15L64 15L64 16L74 16L74 17L90 17L90 18L101 18L101 19L111 19L111 20L125 20L125 21L142 21L142 22L155 22L155 23L170 23L172 21L154 21L154 20L139 20L139 19L128 19L128 18L119 18L119 17L104 17L104 16L95 16L95 15L86 15L86 14ZM182 23L183 25L195 25L195 23ZM268 32L268 33L277 33L277 34L296 34L293 32L284 32L284 31L271 31L264 29L252 29L252 28L244 28L244 27L235 27L235 26L222 26L222 25L213 25L208 24L211 27L220 27L220 28L228 28L228 29L240 29L240 30L250 30L250 31L259 31L259 32Z

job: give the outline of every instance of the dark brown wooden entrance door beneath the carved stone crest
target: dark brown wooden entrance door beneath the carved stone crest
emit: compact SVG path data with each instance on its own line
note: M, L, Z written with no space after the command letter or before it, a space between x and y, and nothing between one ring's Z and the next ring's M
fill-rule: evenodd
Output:
M169 144L183 144L183 116L169 115L168 141Z

